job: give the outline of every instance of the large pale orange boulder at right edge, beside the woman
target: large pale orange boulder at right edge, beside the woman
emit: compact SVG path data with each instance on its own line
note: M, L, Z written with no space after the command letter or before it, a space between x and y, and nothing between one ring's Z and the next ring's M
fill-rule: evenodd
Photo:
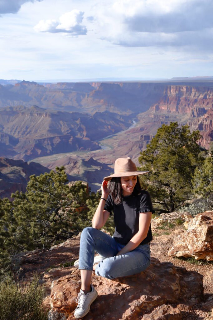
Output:
M213 211L197 214L187 222L187 230L174 237L168 255L213 260Z

